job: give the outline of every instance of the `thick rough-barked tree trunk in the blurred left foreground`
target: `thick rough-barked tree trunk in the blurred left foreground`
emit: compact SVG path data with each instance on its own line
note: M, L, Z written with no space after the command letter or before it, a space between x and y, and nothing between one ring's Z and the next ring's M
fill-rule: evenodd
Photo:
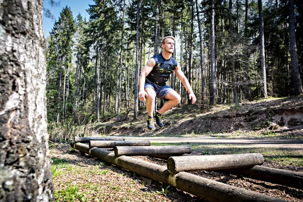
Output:
M41 10L41 0L0 4L1 201L54 200Z

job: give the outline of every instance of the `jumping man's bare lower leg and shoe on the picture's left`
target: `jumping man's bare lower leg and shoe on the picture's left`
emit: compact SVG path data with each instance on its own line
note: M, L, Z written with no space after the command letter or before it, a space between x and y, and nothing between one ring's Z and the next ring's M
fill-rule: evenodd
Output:
M154 124L154 109L155 109L155 99L156 99L156 92L153 88L147 87L145 88L145 92L147 92L148 96L146 96L146 110L148 112L147 117L147 129L148 130L155 130Z

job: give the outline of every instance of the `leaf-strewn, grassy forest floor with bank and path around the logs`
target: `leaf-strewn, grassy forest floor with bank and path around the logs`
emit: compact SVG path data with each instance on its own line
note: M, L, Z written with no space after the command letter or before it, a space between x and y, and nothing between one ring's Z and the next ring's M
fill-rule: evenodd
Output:
M143 110L144 111L144 110ZM129 114L131 117L131 114ZM281 118L282 117L282 118ZM260 153L263 166L303 173L303 97L257 100L240 107L175 108L165 129L146 131L146 114L93 125L85 136L149 139L152 145L190 145L191 155ZM50 143L57 201L204 201L133 172L100 162L68 144ZM133 157L166 166L166 161ZM215 171L192 172L208 179L286 201L303 201L303 190Z

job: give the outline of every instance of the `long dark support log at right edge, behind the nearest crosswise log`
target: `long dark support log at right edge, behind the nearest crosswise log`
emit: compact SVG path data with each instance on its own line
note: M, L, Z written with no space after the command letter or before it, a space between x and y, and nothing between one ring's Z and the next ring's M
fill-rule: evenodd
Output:
M293 172L265 166L254 166L252 168L227 169L220 172L242 175L251 179L262 180L293 188L303 189L303 173Z

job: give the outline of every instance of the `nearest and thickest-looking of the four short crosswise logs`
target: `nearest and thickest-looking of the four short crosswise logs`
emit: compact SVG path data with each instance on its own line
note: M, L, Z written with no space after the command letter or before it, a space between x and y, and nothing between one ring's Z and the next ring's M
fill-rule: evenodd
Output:
M171 157L167 169L175 174L181 171L220 170L262 165L264 158L259 153L237 155L210 155Z

